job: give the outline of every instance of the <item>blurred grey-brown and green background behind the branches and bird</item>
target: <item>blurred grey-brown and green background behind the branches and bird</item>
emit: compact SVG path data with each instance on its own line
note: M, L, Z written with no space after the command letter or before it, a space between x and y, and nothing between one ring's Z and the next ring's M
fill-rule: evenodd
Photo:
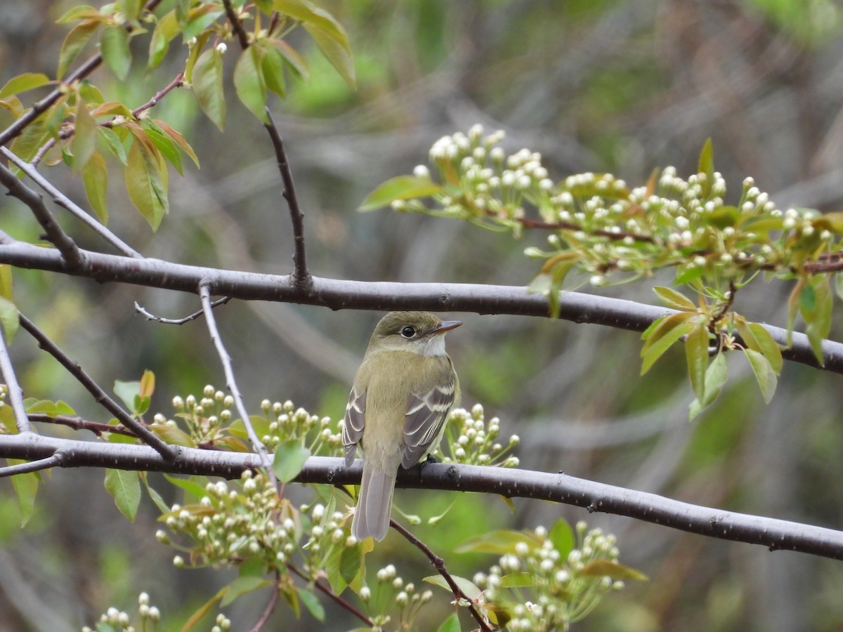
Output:
M20 72L55 73L66 29L54 22L73 4L0 3L0 83ZM459 222L355 212L376 185L426 163L438 137L478 122L487 130L505 130L507 150L541 152L554 179L612 171L631 185L646 180L656 166L693 173L699 149L711 137L717 169L730 187L727 200L737 199L742 179L752 175L780 208L840 211L843 16L836 3L322 4L348 30L358 89L352 92L327 62L310 54L311 82L293 86L287 101L272 106L287 142L316 275L526 284L536 264L523 250L542 244L543 235L513 242ZM306 36L294 37L305 51L313 48ZM145 51L148 35L132 40L132 46ZM141 104L169 82L184 55L172 46L154 72L136 62L126 83L117 83L105 68L92 81L106 94ZM234 59L229 54L226 62L233 65ZM172 212L156 234L132 211L114 177L110 228L151 257L286 274L292 238L271 145L234 99L230 83L227 89L223 133L186 90L158 104L155 116L185 134L201 170L189 166L183 179L171 174ZM80 180L66 169L46 173L72 198L84 200ZM15 237L35 239L40 232L17 201L0 201L0 217ZM84 247L102 248L81 226L64 222ZM650 287L669 281L602 292L655 303ZM133 308L137 301L153 313L177 317L199 307L194 296L25 270L15 271L15 283L22 311L100 383L138 379L144 369L153 370L158 384L153 411L170 415L175 394L198 396L206 383L223 386L201 320L164 326ZM789 290L779 283L742 292L735 307L749 319L783 326ZM449 338L449 350L464 404L481 401L487 419L501 417L504 436L522 437L522 467L843 527L840 376L787 366L765 406L749 367L738 358L730 362L730 381L720 399L689 424L693 395L679 351L640 378L641 341L634 333L542 319L457 316L465 326ZM229 303L217 310L253 408L264 398L293 399L334 417L341 415L378 318L284 304ZM832 337L840 337L839 325L833 325ZM78 384L25 335L15 340L13 353L28 396L66 399L90 419L105 420ZM0 481L0 629L78 629L109 605L134 610L142 590L164 611L169 621L164 629L178 629L231 579L210 570L175 570L170 550L153 538L152 503L144 501L145 511L126 523L103 490L100 472L57 470L45 477L35 518L23 532L11 485ZM451 550L491 528L550 526L562 516L615 533L621 561L651 580L607 597L577 630L836 630L843 624L840 562L771 554L540 502L515 501L512 514L491 497L413 491L399 492L397 505L424 517L453 505L438 527L419 527L417 533L446 558L450 570L467 576L493 560ZM400 560L405 581L417 583L432 572L395 535L379 546L369 567L377 570L378 560ZM265 597L230 608L229 617L240 622L237 629L257 618ZM451 608L443 593L438 604L428 607L431 626ZM334 622L330 629L352 625L335 607L326 608ZM287 609L280 610L273 619L277 629L289 623ZM321 627L312 619L297 624L297 629Z

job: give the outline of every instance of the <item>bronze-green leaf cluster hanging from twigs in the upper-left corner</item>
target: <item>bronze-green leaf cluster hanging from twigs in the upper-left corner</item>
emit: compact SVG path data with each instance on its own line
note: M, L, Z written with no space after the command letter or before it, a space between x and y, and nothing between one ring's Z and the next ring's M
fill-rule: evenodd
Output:
M110 184L102 151L105 149L124 165L129 200L156 230L169 212L166 163L183 174L181 152L197 167L198 160L180 132L164 121L152 121L148 110L175 88L190 87L201 110L222 130L228 109L223 90L223 55L229 43L241 43L238 29L245 33L250 25L254 27L245 35L245 48L234 65L234 88L240 101L261 122L268 122L269 93L286 96L287 72L297 78L308 76L307 62L285 41L296 26L309 33L336 72L354 87L348 35L324 9L306 0L265 0L239 6L235 13L236 28L216 0L177 3L162 14L146 11L137 0L105 4L99 9L89 6L70 9L58 20L59 24L72 24L72 28L59 51L56 81L65 77L98 31L103 62L118 79L126 79L132 70L131 40L147 36L146 67L152 71L164 61L170 45L181 35L186 50L184 72L147 104L134 109L119 101L106 100L88 79L66 83L58 99L14 140L13 152L24 160L36 158L46 164L56 163L56 154L60 156L64 163L82 174L89 204L105 223L109 219ZM267 16L271 16L271 29L264 24ZM0 88L0 108L15 118L26 115L29 110L24 109L18 95L50 83L55 82L42 73L25 72L13 77Z

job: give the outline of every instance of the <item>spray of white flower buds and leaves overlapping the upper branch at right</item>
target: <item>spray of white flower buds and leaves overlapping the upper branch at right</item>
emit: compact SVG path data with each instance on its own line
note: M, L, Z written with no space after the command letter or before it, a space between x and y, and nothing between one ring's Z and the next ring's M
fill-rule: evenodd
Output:
M548 249L531 247L525 254L544 260L529 290L548 298L551 317L558 315L560 293L571 287L566 281L574 274L604 287L674 269L675 285L696 302L673 288L656 288L661 302L676 311L642 335L642 374L685 341L695 394L692 418L722 388L723 351L743 351L765 401L776 391L781 349L761 324L733 309L738 290L761 273L797 279L787 328L801 315L813 353L823 362L822 340L833 308L829 273L840 268L843 213L781 212L751 178L744 180L737 203L727 204L711 140L702 148L696 174L683 179L668 167L631 189L611 174L555 182L540 154L522 149L507 156L497 147L502 137L500 131L484 137L481 126L474 126L468 135L440 138L430 150L436 177L419 165L412 175L380 185L361 210L391 206L507 229L516 237L527 229L549 232Z

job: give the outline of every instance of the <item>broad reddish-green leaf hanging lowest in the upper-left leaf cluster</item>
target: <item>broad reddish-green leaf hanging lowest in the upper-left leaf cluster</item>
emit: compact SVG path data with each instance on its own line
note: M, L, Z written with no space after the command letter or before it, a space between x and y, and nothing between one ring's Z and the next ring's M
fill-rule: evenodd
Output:
M150 142L150 145L152 143ZM129 149L129 157L126 163L126 189L129 191L129 199L135 205L138 212L147 220L153 230L157 230L169 212L167 201L167 169L159 160L158 150L140 142L137 138L132 142Z

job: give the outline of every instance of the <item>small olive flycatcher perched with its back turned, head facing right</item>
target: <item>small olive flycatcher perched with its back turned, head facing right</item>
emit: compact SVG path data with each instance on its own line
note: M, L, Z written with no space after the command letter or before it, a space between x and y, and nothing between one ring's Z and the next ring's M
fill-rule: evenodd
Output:
M445 352L459 320L429 312L390 312L374 328L346 405L346 467L359 445L363 475L352 533L382 540L389 530L399 463L410 469L438 446L459 379Z

